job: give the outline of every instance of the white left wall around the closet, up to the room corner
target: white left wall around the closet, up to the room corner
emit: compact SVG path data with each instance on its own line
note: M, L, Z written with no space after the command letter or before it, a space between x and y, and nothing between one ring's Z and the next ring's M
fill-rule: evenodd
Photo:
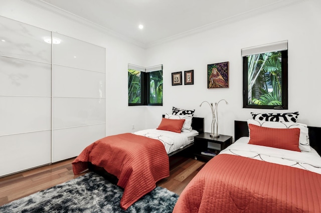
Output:
M2 0L0 15L106 48L106 134L145 127L144 107L128 107L127 65L144 65L145 49L22 0Z

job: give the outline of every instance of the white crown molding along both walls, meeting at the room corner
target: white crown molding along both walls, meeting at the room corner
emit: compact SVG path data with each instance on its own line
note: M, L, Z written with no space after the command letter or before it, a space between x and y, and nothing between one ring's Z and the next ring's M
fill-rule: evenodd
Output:
M196 33L203 32L203 31L207 31L207 30L213 29L215 27L223 26L225 24L229 24L229 23L237 22L239 20L243 20L243 19L246 19L246 18L249 18L249 17L257 16L257 15L269 12L271 10L276 10L276 9L284 8L284 7L287 7L287 6L291 6L293 4L297 4L297 3L300 3L300 2L303 2L303 1L306 1L306 0L278 0L278 1L274 2L274 3L270 3L268 5L265 5L265 6L262 6L262 7L259 7L259 8L255 8L255 9L243 12L243 13L239 13L239 14L224 18L222 20L218 20L218 21L206 24L204 26L200 26L200 27L197 27L197 28L194 28L194 29L191 29L191 30L188 30L188 31L185 31L185 32L182 32L182 33L167 37L167 38L164 38L164 39L160 39L160 40L157 40L155 42L150 42L150 43L142 43L142 42L139 42L137 40L128 38L127 36L124 36L124 35L122 35L122 34L120 34L118 32L115 32L115 31L113 31L111 29L108 29L108 28L106 28L106 27L104 27L102 25L94 23L94 22L92 22L92 21L90 21L88 19L85 19L85 18L83 18L81 16L78 16L78 15L76 15L74 13L71 13L69 11L66 11L64 9L61 9L61 8L59 8L57 6L54 6L54 5L50 4L50 3L47 3L47 2L45 2L43 0L22 0L22 1L25 1L27 3L30 3L30 4L34 5L34 6L40 7L42 9L47 10L47 11L53 12L53 13L55 13L57 15L60 15L60 16L65 17L67 19L73 20L73 21L78 22L80 24L92 27L92 28L94 28L94 29L96 29L98 31L101 31L101 32L106 33L106 34L111 35L111 36L114 36L114 37L119 38L121 40L124 40L126 42L132 43L132 44L137 45L139 47L149 48L149 47L156 46L156 45L159 45L159 44L163 44L163 43L166 43L166 42L169 42L169 41L172 41L172 40L176 40L176 39L179 39L179 38L182 38L182 37L186 37L186 36L189 36L189 35L192 35L192 34L196 34Z

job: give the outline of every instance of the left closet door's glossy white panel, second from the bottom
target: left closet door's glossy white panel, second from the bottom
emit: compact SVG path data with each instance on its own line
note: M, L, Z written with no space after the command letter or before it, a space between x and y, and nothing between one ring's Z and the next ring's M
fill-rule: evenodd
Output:
M48 130L51 97L1 96L0 117L0 135Z

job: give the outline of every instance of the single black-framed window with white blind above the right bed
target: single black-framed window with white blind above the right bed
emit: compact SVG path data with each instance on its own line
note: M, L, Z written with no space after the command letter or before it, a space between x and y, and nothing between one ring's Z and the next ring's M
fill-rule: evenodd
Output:
M287 109L287 41L242 49L243 108Z

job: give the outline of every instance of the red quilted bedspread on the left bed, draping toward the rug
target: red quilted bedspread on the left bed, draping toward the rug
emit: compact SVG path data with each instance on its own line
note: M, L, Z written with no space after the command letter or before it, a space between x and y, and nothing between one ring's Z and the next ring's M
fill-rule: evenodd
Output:
M87 146L72 162L74 174L87 169L87 162L119 179L117 185L124 188L120 206L125 210L170 175L163 143L132 133L107 136Z

